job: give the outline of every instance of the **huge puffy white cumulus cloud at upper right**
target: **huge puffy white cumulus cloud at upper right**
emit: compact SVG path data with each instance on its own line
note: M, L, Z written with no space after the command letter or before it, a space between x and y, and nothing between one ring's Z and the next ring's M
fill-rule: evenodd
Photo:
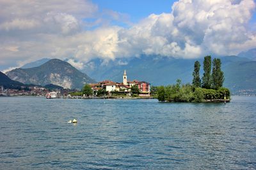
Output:
M246 29L254 9L250 0L180 0L173 4L172 13L150 15L120 31L120 49L127 55L182 58L236 54L255 47L255 34Z

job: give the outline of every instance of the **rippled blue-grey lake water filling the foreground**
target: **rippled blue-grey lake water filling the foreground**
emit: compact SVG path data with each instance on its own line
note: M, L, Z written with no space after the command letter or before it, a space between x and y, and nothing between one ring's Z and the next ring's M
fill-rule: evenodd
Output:
M256 169L256 97L0 97L0 108L0 169Z

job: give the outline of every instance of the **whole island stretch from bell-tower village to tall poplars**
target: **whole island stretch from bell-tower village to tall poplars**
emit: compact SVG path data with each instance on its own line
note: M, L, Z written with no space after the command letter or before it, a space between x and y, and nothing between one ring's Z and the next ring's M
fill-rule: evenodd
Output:
M221 60L211 60L211 55L204 57L204 75L200 78L200 62L196 61L193 82L181 84L178 79L174 85L154 87L147 81L127 80L124 70L122 83L111 80L85 84L83 89L70 92L70 98L83 99L152 99L160 102L229 102L230 90L223 87L225 80L221 71Z

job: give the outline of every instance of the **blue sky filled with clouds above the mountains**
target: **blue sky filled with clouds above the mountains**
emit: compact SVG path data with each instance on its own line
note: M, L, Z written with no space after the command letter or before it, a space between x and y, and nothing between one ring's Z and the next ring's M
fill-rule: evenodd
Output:
M253 0L0 0L0 71L42 58L196 59L256 48Z

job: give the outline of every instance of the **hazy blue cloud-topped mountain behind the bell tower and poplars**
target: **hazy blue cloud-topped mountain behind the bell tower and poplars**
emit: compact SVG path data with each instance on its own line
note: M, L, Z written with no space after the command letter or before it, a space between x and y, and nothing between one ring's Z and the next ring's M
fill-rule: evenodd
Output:
M144 80L152 85L173 84L177 79L181 79L182 83L191 83L195 60L200 61L202 77L204 59L173 59L158 56L115 60L109 61L108 64L104 64L100 59L94 59L88 62L84 71L97 81L106 79L122 81L122 75L126 69L128 80ZM241 89L256 91L256 61L237 56L225 56L221 57L221 62L225 74L225 87L232 92Z

